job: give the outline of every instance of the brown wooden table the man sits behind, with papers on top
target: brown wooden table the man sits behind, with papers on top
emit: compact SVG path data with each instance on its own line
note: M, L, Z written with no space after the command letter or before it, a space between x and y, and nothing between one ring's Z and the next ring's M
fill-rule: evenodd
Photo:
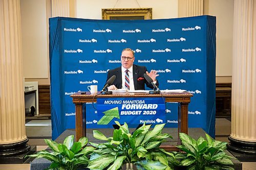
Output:
M99 93L99 92L98 92ZM163 92L163 97L165 102L178 102L178 133L183 132L187 134L187 112L188 104L190 103L190 98L193 94L189 92ZM84 103L91 103L95 95L90 92L87 94L81 94L81 92L70 95L73 98L73 103L76 109L76 141L78 141L82 136L86 136L86 114L82 114L82 105ZM97 98L161 98L161 94L148 94L148 93L113 93L113 94L99 94L95 96L94 102ZM85 108L86 110L86 108ZM84 110L84 113L86 111ZM84 121L84 122L83 122ZM180 141L178 141L179 143Z

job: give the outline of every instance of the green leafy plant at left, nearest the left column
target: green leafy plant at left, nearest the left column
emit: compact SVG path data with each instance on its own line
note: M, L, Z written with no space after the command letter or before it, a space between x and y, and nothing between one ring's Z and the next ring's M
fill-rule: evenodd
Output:
M52 151L44 150L28 156L50 160L52 163L47 169L75 170L78 167L86 167L89 162L88 155L92 153L94 148L85 147L88 143L86 137L80 138L78 142L73 141L74 135L66 137L63 144L45 139Z

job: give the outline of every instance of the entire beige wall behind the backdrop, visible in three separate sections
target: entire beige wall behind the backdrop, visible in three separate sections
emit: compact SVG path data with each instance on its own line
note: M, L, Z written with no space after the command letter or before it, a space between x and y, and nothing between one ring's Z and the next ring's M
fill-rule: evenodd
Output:
M48 2L48 3L47 3ZM50 0L20 0L25 81L50 84L47 11ZM204 14L217 17L216 82L231 82L233 0L205 0ZM101 19L102 8L153 8L153 19L177 18L178 0L76 0L77 18Z

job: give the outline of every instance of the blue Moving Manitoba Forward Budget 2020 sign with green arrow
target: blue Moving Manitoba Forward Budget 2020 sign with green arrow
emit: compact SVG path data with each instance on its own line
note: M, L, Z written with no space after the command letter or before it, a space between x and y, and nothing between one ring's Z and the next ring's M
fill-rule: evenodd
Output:
M163 124L165 100L163 98L98 98L98 125Z

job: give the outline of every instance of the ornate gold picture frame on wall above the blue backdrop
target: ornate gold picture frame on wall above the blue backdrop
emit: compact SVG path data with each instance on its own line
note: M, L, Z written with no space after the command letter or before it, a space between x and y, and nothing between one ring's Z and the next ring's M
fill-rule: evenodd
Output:
M101 12L102 19L107 20L152 19L152 8L101 9Z

